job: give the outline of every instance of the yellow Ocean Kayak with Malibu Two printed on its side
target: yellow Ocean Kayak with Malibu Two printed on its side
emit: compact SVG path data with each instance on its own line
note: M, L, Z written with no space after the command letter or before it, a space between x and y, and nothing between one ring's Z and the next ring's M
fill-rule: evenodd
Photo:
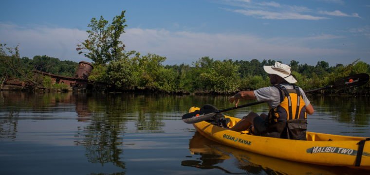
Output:
M191 107L189 112L195 110L199 110L199 107ZM225 117L230 119L229 127L240 120ZM364 137L307 132L307 140L288 140L253 136L248 131L235 132L204 121L193 125L200 134L210 140L260 155L303 163L370 170L370 141L365 141L368 139Z

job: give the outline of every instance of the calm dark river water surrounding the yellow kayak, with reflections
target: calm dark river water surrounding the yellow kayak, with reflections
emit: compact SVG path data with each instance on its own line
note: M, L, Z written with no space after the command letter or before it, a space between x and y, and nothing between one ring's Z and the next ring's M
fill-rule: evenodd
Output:
M0 91L0 175L370 174L240 151L206 140L181 120L191 106L232 107L227 99ZM370 97L309 99L315 108L309 131L370 137ZM225 114L241 118L251 110L268 109Z

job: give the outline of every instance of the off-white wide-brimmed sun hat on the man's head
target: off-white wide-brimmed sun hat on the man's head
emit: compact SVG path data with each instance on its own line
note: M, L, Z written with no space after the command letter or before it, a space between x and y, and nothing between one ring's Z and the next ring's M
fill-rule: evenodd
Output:
M288 83L296 83L296 78L293 77L292 72L290 71L290 66L286 64L282 64L279 62L275 62L273 66L263 66L263 70L265 70L268 74L275 74L281 78L284 78L285 81Z

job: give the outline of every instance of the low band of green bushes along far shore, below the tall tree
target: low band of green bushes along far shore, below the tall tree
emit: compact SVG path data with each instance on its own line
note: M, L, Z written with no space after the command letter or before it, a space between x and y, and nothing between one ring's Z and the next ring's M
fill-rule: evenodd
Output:
M69 91L73 89L88 89L92 91L108 92L163 92L176 94L212 93L231 94L239 90L258 89L270 86L269 77L263 71L263 66L274 65L274 60L214 60L202 57L192 65L163 65L165 57L148 54L141 56L136 53L132 57L121 60L113 60L109 63L93 63L93 69L88 76L87 85L83 88L74 84L56 82L57 77L73 78L79 70L78 63L73 61L59 61L58 58L49 56L35 56L34 59L27 57L19 58L20 72L28 78L23 77L17 71L8 69L4 64L0 65L0 73L8 77L8 89L28 89L43 91ZM35 73L35 66L42 65L39 71L45 74ZM356 60L349 65L338 64L329 67L325 61L318 62L315 66L299 64L292 60L289 64L293 75L297 79L297 86L303 89L321 88L330 85L341 77L351 74L368 73L369 64ZM5 72L6 70L6 72ZM51 75L57 75L52 78ZM14 78L29 82L27 79L37 83L37 86L24 86L19 88L14 83ZM13 82L13 83L12 83ZM1 82L0 82L1 83ZM5 83L6 84L6 83ZM22 83L18 83L22 84ZM24 84L24 83L23 83ZM4 86L3 86L4 88ZM355 93L369 94L370 84L358 88L345 90L325 89L315 93L337 94Z

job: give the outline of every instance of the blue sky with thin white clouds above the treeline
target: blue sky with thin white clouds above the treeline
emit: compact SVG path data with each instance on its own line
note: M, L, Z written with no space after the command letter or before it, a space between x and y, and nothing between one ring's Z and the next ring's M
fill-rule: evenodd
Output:
M89 61L75 51L91 18L126 10L126 50L165 64L274 59L370 64L369 0L2 0L0 43L21 56Z

